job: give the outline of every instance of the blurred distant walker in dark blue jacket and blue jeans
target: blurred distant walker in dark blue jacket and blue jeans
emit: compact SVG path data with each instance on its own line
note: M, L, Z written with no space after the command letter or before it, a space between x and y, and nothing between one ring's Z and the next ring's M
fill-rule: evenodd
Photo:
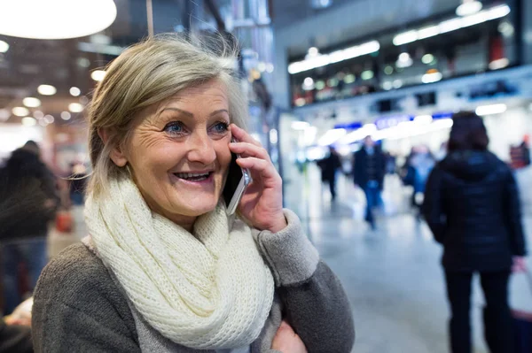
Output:
M380 192L384 185L386 160L371 136L366 136L364 146L355 153L353 172L355 186L362 188L366 196L365 220L375 229L373 209L382 203Z

